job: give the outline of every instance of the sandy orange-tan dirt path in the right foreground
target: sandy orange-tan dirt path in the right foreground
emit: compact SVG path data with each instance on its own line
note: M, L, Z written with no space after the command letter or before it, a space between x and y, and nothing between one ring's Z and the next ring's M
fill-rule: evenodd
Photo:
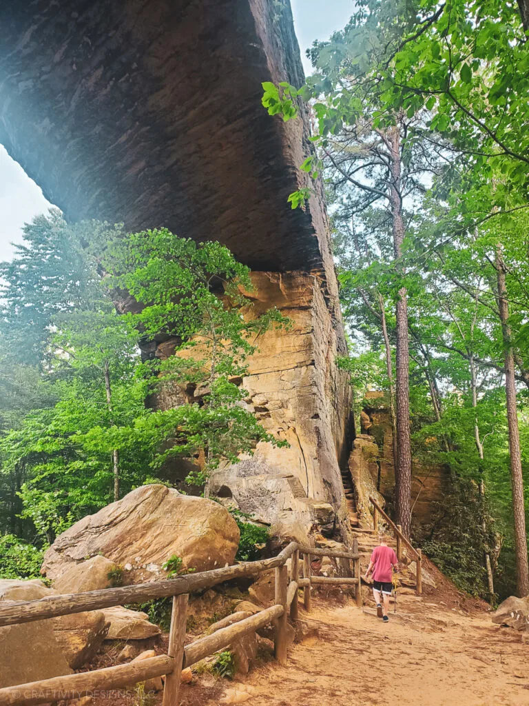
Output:
M372 609L318 602L310 623L319 638L291 647L286 666L251 671L218 703L529 706L529 645L487 614L402 599L384 624Z

